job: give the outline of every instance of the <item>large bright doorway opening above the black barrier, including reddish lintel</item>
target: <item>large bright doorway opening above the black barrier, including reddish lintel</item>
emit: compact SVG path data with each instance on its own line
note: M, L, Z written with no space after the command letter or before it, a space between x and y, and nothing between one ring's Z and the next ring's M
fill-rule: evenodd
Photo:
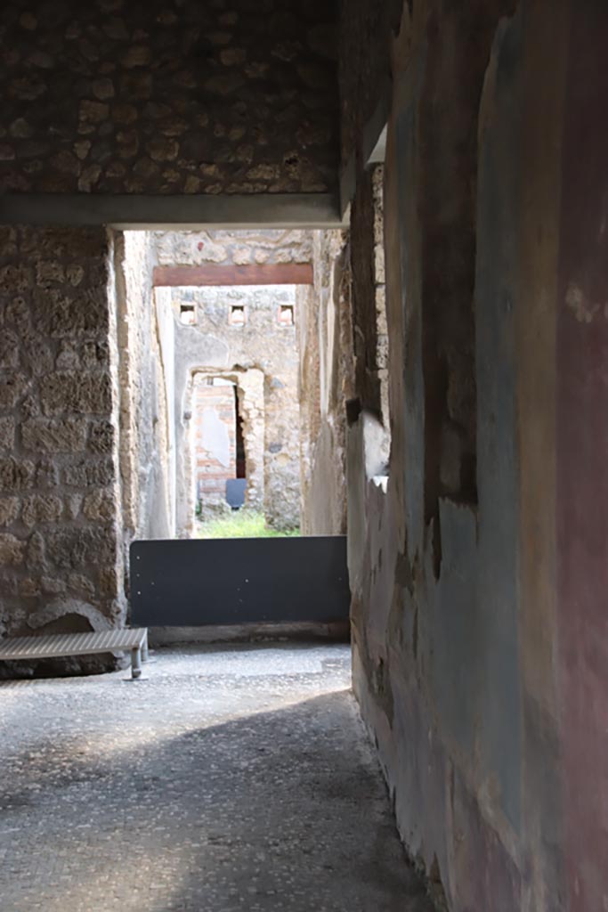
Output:
M142 513L155 516L151 537L197 538L207 523L245 517L246 534L345 534L354 373L345 233L117 240L132 538L150 537Z

